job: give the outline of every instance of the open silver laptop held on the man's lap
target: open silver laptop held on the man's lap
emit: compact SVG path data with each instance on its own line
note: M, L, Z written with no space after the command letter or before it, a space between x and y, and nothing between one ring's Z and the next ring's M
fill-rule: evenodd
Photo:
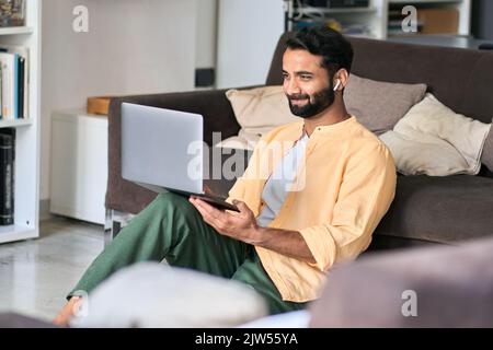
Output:
M122 177L156 192L194 196L239 211L204 190L204 121L193 113L122 104Z

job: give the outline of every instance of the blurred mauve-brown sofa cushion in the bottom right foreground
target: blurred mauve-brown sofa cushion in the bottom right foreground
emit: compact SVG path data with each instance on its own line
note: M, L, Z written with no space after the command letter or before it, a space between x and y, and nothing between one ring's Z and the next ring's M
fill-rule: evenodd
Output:
M311 327L492 327L493 237L367 256L329 273Z

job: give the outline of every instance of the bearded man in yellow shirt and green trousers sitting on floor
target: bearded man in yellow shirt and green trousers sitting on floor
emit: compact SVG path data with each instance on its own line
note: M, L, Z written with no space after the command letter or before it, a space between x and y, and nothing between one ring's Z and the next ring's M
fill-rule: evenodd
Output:
M284 91L303 119L273 130L255 148L229 192L240 212L159 195L89 267L56 322L67 322L78 290L91 292L142 260L248 283L273 314L317 299L328 270L368 247L395 189L390 152L345 108L352 59L351 44L326 27L289 39ZM277 144L289 147L276 155Z

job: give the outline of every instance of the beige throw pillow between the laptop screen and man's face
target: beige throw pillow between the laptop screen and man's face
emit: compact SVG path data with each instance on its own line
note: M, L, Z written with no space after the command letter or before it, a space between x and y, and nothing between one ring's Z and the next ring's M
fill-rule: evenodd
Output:
M231 89L226 96L241 130L237 137L223 140L218 147L253 149L266 132L285 124L300 120L291 114L283 86L249 90Z

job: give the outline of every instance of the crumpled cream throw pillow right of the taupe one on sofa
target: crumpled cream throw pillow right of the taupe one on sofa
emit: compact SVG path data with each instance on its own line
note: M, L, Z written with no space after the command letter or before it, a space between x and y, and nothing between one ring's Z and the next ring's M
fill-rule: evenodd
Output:
M404 175L477 175L490 128L491 124L457 114L426 94L380 139Z

